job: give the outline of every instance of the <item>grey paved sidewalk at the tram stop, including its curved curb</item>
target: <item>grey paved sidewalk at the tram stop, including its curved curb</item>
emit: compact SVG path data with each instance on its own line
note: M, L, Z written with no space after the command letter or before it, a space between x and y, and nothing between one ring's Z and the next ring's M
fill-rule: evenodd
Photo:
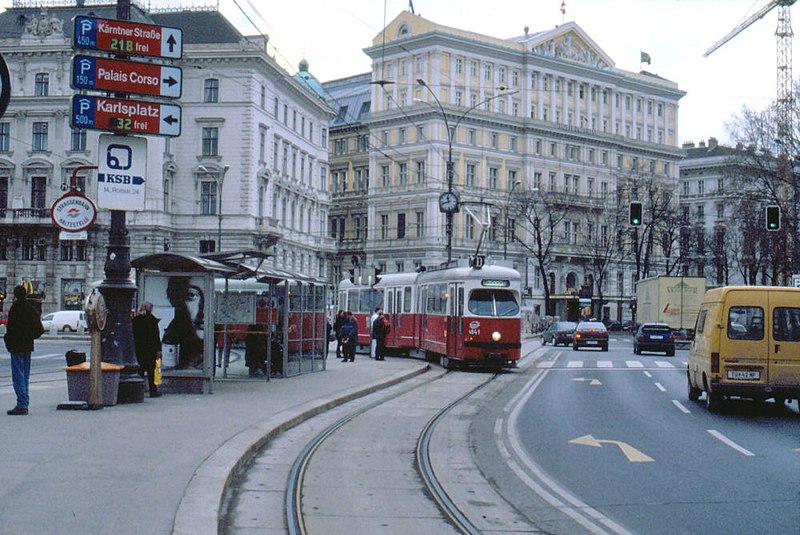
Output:
M32 384L30 415L0 416L0 530L216 533L231 471L271 433L426 366L329 357L324 372L217 381L213 394L165 394L99 411L56 410L67 400L65 379ZM3 410L14 401L11 386L0 387Z

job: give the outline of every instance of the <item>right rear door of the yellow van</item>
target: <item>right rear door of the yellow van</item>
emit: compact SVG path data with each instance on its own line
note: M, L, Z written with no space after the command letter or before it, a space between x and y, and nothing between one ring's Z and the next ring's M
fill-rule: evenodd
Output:
M769 292L772 329L769 376L772 386L800 387L800 304L798 293Z

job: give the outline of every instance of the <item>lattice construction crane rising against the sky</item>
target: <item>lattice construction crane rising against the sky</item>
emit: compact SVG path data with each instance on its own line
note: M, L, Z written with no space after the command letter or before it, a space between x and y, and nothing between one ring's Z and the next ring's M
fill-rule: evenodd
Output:
M778 99L776 109L776 122L778 127L777 141L781 152L788 152L792 143L792 19L789 8L797 0L771 0L759 9L746 21L738 25L731 32L714 43L706 50L703 57L739 35L751 24L760 20L774 8L778 8L778 27L775 30L778 52Z

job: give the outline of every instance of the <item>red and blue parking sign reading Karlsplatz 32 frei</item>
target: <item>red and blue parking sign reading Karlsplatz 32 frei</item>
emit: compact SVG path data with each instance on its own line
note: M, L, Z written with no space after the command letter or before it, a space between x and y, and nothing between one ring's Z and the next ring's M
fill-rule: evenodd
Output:
M181 135L181 107L143 100L75 95L73 128L106 130L118 134Z

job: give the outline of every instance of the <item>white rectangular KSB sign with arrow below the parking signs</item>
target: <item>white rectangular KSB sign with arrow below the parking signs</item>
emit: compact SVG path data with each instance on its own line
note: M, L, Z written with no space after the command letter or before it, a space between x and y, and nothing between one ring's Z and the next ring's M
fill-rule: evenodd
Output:
M108 210L144 210L147 138L100 136L97 205Z

